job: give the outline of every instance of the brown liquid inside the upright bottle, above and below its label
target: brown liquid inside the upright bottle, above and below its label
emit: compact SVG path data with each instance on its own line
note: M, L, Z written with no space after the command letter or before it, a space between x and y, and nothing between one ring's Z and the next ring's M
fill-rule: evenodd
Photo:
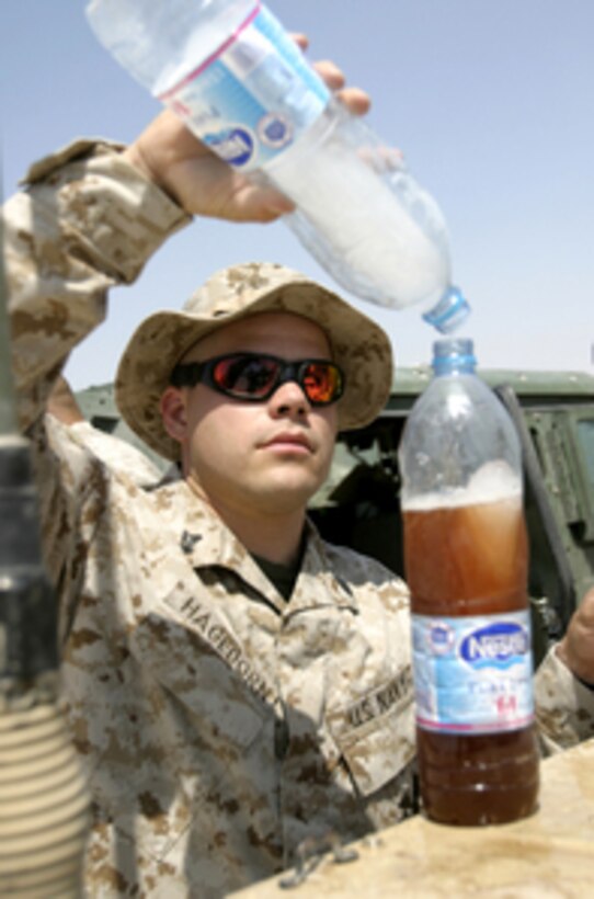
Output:
M527 539L519 497L404 511L412 612L470 616L527 606ZM538 795L534 725L490 733L418 727L426 815L450 824L503 823L530 815Z

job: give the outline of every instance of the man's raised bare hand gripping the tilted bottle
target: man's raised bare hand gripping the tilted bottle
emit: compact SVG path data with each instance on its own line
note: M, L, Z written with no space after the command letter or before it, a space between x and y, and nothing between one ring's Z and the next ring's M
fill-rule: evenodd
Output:
M306 49L304 35L294 38ZM363 115L368 111L367 94L345 88L344 75L333 62L318 62L315 68L352 113ZM282 193L251 183L227 166L169 110L157 116L124 156L192 215L273 221L293 209Z

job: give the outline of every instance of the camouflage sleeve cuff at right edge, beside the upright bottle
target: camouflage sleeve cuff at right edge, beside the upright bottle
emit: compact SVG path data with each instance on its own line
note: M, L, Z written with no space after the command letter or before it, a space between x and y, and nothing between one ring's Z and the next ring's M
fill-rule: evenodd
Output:
M535 678L536 717L548 752L594 737L594 691L578 681L552 647Z

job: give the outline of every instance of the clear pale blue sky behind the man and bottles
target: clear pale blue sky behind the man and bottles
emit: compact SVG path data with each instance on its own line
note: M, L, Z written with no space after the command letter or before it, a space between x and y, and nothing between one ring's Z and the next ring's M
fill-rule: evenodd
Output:
M27 164L79 135L128 141L158 111L98 44L84 0L0 11L4 193ZM480 364L594 373L594 2L271 0L311 59L369 91L372 126L438 201L454 281L473 307ZM77 388L111 380L136 323L179 307L212 272L273 260L332 284L282 224L196 220L113 293L107 322L75 353ZM415 309L357 301L398 362L426 362Z

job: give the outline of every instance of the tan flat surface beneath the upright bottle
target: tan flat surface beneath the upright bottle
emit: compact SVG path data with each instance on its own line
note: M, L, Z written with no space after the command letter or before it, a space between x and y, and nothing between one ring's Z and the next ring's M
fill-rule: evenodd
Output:
M289 870L233 897L594 898L594 740L542 762L530 818L458 828L415 816L349 849L356 860L338 864L329 853L290 889L281 886Z

